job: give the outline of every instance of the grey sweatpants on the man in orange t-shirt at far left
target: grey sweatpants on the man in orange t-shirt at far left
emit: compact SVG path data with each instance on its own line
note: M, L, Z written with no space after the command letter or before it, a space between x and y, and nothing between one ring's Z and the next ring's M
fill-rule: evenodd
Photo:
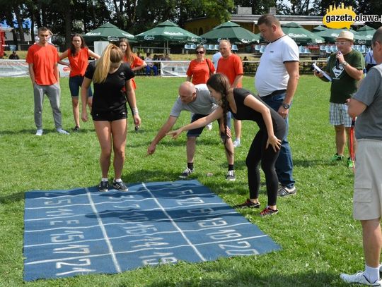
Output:
M61 97L61 89L58 83L53 85L37 85L33 86L33 95L35 97L35 125L37 130L42 129L42 104L44 103L44 94L47 95L50 106L52 106L54 126L62 128L61 111L59 109L59 101Z

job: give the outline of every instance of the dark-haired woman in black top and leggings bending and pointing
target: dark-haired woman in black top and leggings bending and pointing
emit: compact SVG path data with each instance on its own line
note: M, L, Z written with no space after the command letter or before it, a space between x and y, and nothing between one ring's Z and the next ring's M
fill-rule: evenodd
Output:
M221 118L227 111L231 111L233 116L238 120L255 121L260 130L255 135L250 150L248 152L245 164L248 169L248 185L250 198L243 204L238 204L238 208L259 208L260 202L258 194L260 189L260 170L261 161L262 170L265 173L265 182L267 185L268 204L265 209L260 212L261 216L277 214L277 174L274 169L274 163L279 155L282 138L285 133L284 119L277 114L276 111L270 109L267 104L262 102L259 96L253 95L251 92L241 88L231 89L228 79L225 75L217 73L211 76L207 81L207 86L211 96L216 99L220 108L216 109L212 114L198 121L183 126L178 130L174 130L168 134L177 138L183 130L190 130L206 126L208 123ZM224 119L224 128L226 136L231 136L231 131L226 128L226 117Z

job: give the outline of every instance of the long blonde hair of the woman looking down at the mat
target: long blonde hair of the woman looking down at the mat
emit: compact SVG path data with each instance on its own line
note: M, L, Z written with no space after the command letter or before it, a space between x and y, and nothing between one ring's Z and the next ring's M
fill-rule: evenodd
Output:
M123 59L123 53L120 48L115 44L109 44L108 47L102 53L100 59L96 64L96 71L94 71L93 82L103 83L108 77L111 63L121 63Z

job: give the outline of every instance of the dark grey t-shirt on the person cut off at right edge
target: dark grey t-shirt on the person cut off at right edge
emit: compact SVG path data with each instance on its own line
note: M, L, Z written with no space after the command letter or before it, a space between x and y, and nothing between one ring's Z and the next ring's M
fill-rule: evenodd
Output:
M357 117L355 126L357 140L361 138L382 140L382 65L369 70L353 98L367 106Z

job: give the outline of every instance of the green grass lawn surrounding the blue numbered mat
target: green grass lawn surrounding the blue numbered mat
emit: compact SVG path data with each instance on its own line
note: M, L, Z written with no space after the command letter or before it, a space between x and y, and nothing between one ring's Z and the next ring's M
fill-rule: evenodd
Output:
M141 131L129 118L127 160L122 178L128 183L175 181L185 168L185 134L165 138L156 153L146 149L168 118L184 78L137 78ZM67 78L62 79L64 128L74 127ZM45 101L45 134L36 137L29 78L0 78L0 286L346 286L341 272L363 269L361 226L352 219L353 173L345 162L330 164L335 152L334 129L328 123L329 85L301 76L291 108L289 142L298 193L279 198L279 214L260 218L257 210L240 210L270 235L282 250L268 255L233 257L215 262L146 267L115 275L23 282L23 208L28 190L88 187L98 184L99 145L91 122L69 136L54 132L52 111ZM253 90L253 78L243 87ZM184 112L175 124L187 123ZM226 183L226 159L216 124L199 138L197 178L228 204L248 197L245 156L257 128L243 122L242 147L236 149L236 178ZM214 176L206 176L213 173ZM110 172L110 178L112 172ZM264 177L260 202L267 202Z

